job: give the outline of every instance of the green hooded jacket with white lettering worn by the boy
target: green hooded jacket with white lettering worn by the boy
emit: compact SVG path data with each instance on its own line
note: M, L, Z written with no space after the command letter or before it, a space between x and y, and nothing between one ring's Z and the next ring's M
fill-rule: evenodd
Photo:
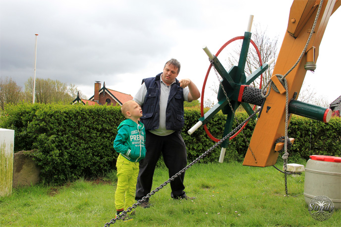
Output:
M146 131L141 122L126 119L117 127L114 149L131 162L139 162L146 156Z

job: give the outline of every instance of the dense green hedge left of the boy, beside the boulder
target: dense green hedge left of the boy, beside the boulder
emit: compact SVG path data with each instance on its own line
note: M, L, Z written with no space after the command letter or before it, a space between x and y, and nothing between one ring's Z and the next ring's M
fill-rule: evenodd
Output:
M14 150L36 149L46 182L96 177L114 168L119 107L59 104L7 106L1 127L15 130Z

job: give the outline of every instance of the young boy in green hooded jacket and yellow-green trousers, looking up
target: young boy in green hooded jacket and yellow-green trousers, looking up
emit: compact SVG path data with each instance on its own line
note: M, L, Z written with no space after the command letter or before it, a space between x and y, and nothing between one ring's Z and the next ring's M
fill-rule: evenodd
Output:
M141 107L137 102L130 100L122 105L121 111L126 120L119 124L117 136L114 140L114 149L119 153L116 161L116 217L135 202L139 161L146 156L146 132L144 125L138 120L142 117ZM131 218L125 215L120 219L127 221Z

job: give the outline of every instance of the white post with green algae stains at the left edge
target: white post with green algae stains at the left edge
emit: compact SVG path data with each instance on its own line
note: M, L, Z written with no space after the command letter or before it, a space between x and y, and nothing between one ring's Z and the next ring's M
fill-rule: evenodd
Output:
M14 130L0 129L0 197L12 193L13 152Z

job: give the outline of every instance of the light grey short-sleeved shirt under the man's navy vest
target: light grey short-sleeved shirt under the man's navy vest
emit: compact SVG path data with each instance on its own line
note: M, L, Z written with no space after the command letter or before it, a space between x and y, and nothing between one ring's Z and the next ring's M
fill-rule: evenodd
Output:
M174 131L173 130L167 130L166 129L166 108L167 108L167 102L168 102L168 96L170 95L170 87L173 86L175 81L170 85L167 86L163 80L162 76L160 76L160 87L161 87L161 94L160 94L160 125L159 129L157 130L150 130L149 132L158 135L158 136L168 136L172 134ZM137 102L140 106L143 105L144 103L144 98L147 94L147 87L143 83L142 86L140 87L139 91L135 94L133 100ZM188 94L189 94L189 89L188 87L183 89L183 98L185 101L188 102Z

